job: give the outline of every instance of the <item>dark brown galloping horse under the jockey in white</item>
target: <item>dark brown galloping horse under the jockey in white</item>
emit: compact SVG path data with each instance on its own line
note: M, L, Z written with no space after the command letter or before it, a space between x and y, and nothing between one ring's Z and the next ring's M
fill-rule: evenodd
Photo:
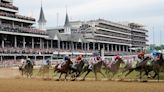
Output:
M97 62L97 63L93 64L93 68L92 68L92 69L89 68L89 64L86 65L86 66L84 66L83 71L82 71L81 74L83 74L84 72L87 72L87 73L86 73L85 76L83 77L82 81L85 80L85 78L87 77L87 75L88 75L91 71L92 71L92 72L94 73L94 75L95 75L95 80L97 80L97 72L100 73L103 77L105 77L105 75L104 75L104 74L102 73L102 71L101 71L102 65L104 65L104 61L103 61L103 60L101 60L100 62Z

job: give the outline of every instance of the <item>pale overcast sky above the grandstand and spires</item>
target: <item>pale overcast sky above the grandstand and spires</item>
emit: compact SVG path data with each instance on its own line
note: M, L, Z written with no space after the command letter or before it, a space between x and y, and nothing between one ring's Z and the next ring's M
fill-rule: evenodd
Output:
M41 0L14 0L14 5L19 14L38 20ZM149 43L164 44L164 0L43 0L48 28L57 25L57 14L58 24L64 24L66 6L70 20L136 22L149 29Z

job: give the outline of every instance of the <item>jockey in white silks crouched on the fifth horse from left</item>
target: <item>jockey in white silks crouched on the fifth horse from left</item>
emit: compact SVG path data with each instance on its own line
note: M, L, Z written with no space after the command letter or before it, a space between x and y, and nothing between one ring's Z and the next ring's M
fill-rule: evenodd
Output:
M99 62L101 62L102 61L102 58L101 58L101 56L100 55L98 55L98 54L93 54L93 57L91 57L90 58L90 60L89 60L89 69L93 69L93 65L95 65L95 64L97 64L97 63L99 63Z

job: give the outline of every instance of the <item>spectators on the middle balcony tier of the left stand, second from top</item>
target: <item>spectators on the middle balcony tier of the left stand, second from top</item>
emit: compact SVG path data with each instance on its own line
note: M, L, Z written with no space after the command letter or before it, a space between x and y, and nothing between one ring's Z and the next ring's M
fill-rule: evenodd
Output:
M27 16L22 16L22 15L17 15L17 14L6 13L6 12L0 12L0 16L6 16L6 17L11 17L11 18L17 18L17 19L35 21L35 18L31 18L31 17L27 17Z

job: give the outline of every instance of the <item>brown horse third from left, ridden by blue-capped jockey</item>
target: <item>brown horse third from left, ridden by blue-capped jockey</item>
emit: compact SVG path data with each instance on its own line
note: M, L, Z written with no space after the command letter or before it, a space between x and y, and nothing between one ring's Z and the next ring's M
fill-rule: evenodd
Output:
M61 68L58 68L60 64L57 64L54 68L54 73L60 73L60 76L57 80L60 80L62 74L65 74L65 80L67 80L68 73L70 71L70 65L72 64L72 61L69 59L68 61L65 62L64 65L61 66Z

